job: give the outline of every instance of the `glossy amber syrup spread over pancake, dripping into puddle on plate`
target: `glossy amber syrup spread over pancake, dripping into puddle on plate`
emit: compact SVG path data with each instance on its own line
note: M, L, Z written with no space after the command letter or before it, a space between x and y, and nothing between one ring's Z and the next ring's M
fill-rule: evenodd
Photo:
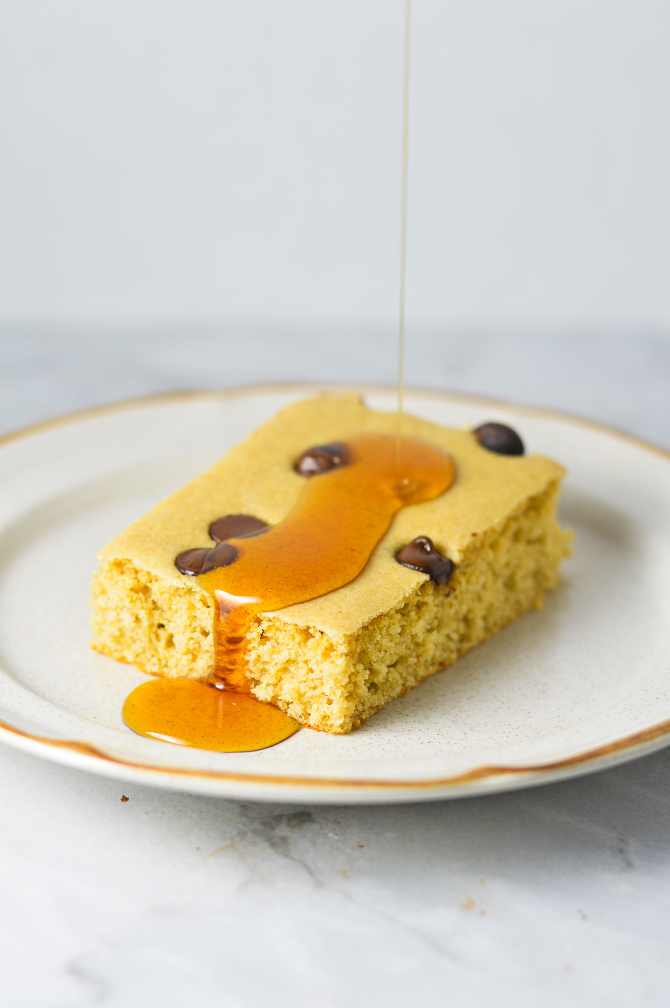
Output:
M249 538L227 540L237 557L198 576L215 599L215 663L210 681L156 678L134 689L123 718L139 735L198 749L265 749L300 727L250 694L246 634L256 614L307 602L363 571L393 517L449 488L454 467L439 449L403 437L359 434L348 462L305 480L287 517Z

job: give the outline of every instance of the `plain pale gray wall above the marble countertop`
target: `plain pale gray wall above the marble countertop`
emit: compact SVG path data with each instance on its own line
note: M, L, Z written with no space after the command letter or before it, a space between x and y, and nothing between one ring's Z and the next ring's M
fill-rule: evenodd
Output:
M402 0L0 10L0 318L394 324ZM668 4L413 11L410 322L667 330Z

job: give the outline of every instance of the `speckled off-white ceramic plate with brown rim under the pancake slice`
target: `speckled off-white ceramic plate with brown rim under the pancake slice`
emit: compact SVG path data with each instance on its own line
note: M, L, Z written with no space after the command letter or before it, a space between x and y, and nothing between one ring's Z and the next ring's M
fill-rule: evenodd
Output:
M0 442L0 738L124 781L273 801L416 801L559 780L670 744L670 456L567 416L439 392L437 423L513 424L569 470L564 582L347 736L309 730L258 753L140 738L122 723L145 676L88 645L97 550L315 386L159 396ZM364 388L393 410L394 392Z

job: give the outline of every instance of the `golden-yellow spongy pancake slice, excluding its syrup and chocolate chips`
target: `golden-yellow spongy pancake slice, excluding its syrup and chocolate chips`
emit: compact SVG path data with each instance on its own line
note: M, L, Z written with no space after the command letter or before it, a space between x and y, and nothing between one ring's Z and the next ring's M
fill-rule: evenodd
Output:
M415 427L409 432L450 452L460 485L457 480L437 501L401 512L351 585L260 613L247 634L252 692L310 728L341 734L359 727L539 608L569 552L570 533L555 520L560 466L540 456L494 456L470 433L408 420ZM292 465L308 447L306 439L323 444L361 427L392 428L394 422L351 398L297 403L279 414L102 550L92 585L92 645L154 675L208 675L214 600L196 578L176 571L173 557L207 545L209 522L220 514L281 520L302 486ZM276 471L270 467L267 477L257 477L257 465L248 466L255 446L266 458L274 453ZM259 486L245 483L249 471ZM395 560L397 550L418 534L430 535L456 564L446 585Z

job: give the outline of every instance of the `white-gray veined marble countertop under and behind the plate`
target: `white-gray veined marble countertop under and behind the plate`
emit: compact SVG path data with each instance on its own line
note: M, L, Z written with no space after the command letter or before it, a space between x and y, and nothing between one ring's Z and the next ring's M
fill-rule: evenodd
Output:
M394 356L372 331L5 329L0 428L174 388L392 381ZM662 336L416 334L407 377L670 448ZM11 1008L667 1004L670 749L378 807L122 790L4 746L0 767Z

